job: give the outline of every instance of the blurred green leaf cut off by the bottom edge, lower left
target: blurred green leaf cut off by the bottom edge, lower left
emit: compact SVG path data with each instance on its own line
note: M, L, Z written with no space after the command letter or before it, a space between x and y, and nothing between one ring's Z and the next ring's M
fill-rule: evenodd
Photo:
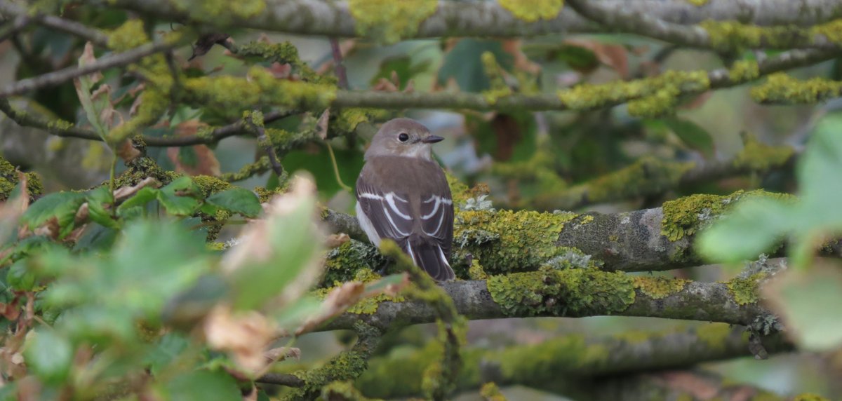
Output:
M237 382L226 372L188 372L174 377L166 386L168 399L232 401L242 398Z

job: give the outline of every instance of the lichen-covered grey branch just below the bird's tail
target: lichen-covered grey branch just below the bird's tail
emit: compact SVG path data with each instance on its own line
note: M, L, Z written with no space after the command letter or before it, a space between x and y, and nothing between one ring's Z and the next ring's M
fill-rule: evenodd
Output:
M446 282L442 288L458 313L472 320L617 315L715 321L769 330L777 320L757 303L757 282L735 280L664 284L641 282L621 272L569 269ZM749 294L755 294L754 298ZM359 321L382 330L395 329L433 323L437 317L435 310L421 301L383 302L373 314L343 314L321 330L349 329Z

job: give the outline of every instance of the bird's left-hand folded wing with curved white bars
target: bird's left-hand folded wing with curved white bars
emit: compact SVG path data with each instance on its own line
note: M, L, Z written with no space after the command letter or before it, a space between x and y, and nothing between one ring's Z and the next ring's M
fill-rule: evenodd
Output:
M356 187L357 202L380 238L405 240L413 234L412 208L406 193L386 192L360 176Z

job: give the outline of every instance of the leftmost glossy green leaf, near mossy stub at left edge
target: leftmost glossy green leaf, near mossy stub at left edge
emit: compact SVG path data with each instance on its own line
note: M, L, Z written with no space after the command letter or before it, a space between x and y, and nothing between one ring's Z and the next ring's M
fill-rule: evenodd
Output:
M56 219L60 227L59 238L64 238L73 230L73 220L82 203L85 203L83 193L50 193L32 203L20 221L29 229L35 229L51 219Z

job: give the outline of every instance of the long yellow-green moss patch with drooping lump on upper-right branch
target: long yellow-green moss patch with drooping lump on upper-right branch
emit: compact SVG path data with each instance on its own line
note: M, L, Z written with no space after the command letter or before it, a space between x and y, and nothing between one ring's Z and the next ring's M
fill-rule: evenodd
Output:
M582 84L558 92L558 98L573 110L591 110L610 105L629 104L629 113L656 116L674 107L678 93L704 92L711 86L706 71L666 71L658 77L631 82Z

